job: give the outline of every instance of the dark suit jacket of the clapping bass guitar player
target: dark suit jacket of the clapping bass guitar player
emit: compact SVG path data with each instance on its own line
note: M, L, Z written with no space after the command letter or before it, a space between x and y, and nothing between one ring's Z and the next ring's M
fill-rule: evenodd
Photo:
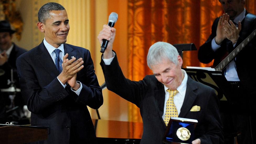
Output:
M214 65L218 65L223 59L223 55L229 51L231 52L234 48L232 42L227 44L230 40L225 39L221 43L221 47L215 52L212 50L211 41L216 36L216 30L218 25L218 20L220 17L216 18L212 24L212 33L207 39L207 41L200 46L198 50L198 59L202 63L209 63L214 59ZM239 38L236 46L238 46L243 40L245 40L256 28L256 15L249 14L246 12L246 17L241 22L242 29L239 33ZM252 39L247 46L236 56L236 68L237 74L241 81L243 88L249 92L255 92L256 88L256 75L252 70L255 62L256 53L256 38ZM224 57L225 58L225 57Z

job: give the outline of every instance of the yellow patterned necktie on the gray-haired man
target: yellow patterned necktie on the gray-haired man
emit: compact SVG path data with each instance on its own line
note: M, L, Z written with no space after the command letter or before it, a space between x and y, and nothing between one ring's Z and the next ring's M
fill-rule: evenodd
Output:
M178 90L167 89L167 92L169 92L169 98L166 102L166 111L164 116L164 123L166 124L166 126L168 125L171 116L178 117L178 111L173 102L173 97L178 93Z

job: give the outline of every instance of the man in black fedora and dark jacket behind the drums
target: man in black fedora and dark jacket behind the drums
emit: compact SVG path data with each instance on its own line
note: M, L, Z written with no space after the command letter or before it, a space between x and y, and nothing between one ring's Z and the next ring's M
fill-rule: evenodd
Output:
M18 47L12 42L14 30L11 29L10 23L6 20L0 21L0 88L10 87L7 80L11 80L11 69L13 69L13 80L15 86L19 88L16 59L26 50Z

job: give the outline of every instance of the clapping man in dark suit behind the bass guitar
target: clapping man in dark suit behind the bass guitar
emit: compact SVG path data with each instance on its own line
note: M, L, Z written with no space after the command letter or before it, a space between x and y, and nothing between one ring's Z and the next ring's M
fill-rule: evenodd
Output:
M231 53L243 40L255 30L256 15L244 8L244 0L219 0L226 12L212 24L211 35L200 46L198 59L202 63L214 60L214 66ZM223 105L227 111L224 133L238 131L238 143L253 143L256 135L253 122L256 95L256 75L253 69L255 61L256 39L253 38L242 51L223 70L230 85L226 86L228 103ZM224 103L224 102L223 102ZM224 112L225 113L225 112ZM229 116L229 114L231 114ZM228 117L227 117L228 116Z

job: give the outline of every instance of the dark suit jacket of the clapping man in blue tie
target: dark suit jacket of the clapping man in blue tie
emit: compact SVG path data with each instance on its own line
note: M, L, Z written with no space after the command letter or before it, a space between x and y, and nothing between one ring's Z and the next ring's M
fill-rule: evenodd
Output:
M43 42L17 59L22 96L32 112L31 125L49 128L48 139L38 143L70 143L71 135L79 143L95 143L87 105L98 109L103 96L90 52L69 44L64 44L64 51L69 60L71 56L83 58L84 68L76 79L83 86L79 96L58 81L59 73Z

